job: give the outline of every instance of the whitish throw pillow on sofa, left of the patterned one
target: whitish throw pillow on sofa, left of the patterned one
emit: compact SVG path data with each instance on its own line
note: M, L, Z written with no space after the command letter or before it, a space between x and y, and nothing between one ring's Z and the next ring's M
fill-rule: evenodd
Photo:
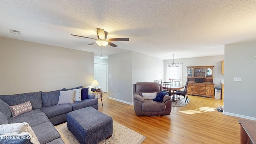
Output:
M73 104L74 103L74 90L60 91L58 104Z

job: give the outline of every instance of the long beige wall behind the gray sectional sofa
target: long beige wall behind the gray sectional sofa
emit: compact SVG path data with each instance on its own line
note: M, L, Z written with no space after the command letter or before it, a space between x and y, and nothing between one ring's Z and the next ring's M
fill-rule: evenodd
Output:
M0 37L0 94L89 86L94 53Z

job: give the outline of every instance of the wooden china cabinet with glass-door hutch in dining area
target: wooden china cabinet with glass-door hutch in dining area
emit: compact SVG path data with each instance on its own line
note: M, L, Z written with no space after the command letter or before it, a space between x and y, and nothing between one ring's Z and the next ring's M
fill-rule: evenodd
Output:
M215 98L213 83L214 66L187 66L188 94Z

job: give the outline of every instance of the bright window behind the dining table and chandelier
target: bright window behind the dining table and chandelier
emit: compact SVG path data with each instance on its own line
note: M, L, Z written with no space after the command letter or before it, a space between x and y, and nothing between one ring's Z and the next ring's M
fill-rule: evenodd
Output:
M166 64L166 82L169 82L169 78L180 79L180 84L182 84L182 63L179 64L179 67L169 67Z

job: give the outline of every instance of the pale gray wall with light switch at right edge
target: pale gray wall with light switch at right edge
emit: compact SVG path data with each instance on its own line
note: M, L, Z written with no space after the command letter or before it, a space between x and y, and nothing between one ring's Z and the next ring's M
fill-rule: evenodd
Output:
M255 56L256 42L225 45L224 114L256 120Z

